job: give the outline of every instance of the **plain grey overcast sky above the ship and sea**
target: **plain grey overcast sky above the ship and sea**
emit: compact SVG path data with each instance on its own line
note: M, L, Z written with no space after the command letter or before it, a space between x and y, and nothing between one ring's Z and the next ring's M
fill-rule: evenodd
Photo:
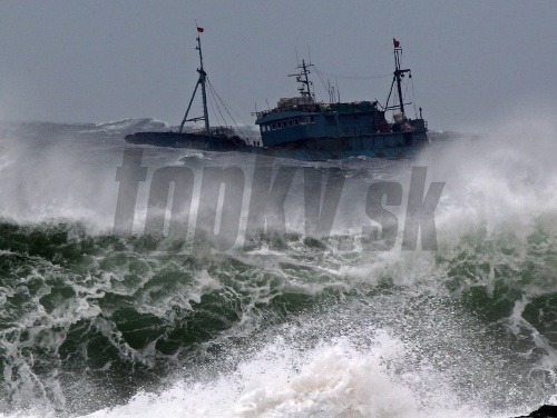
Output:
M246 123L255 103L296 94L296 48L324 73L375 77L393 70L393 37L430 128L557 97L557 1L2 0L0 120L179 123L197 80L195 20L209 79ZM330 78L342 101L384 102L391 82Z

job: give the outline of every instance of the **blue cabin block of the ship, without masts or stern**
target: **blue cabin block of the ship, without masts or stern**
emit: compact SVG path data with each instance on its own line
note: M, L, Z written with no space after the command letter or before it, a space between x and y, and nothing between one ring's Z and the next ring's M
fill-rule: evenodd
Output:
M257 112L264 147L287 147L304 139L370 136L391 131L378 102L316 103L310 97L281 99Z

